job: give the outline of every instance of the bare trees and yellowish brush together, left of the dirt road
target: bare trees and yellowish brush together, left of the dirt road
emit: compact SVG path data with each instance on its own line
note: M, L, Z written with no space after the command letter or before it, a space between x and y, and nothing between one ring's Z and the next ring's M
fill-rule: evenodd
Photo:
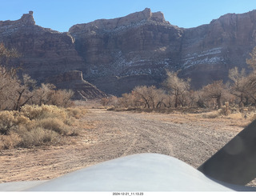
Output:
M77 135L72 123L82 110L70 108L73 92L18 76L19 68L8 66L18 55L0 44L0 149L56 144L60 136Z

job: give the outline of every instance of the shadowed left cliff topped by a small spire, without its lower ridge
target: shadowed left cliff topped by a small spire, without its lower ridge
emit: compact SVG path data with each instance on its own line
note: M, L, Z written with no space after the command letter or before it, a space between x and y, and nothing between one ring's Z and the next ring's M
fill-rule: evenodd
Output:
M32 11L17 21L0 22L0 42L22 54L19 65L38 82L84 66L74 48L74 38L35 25Z

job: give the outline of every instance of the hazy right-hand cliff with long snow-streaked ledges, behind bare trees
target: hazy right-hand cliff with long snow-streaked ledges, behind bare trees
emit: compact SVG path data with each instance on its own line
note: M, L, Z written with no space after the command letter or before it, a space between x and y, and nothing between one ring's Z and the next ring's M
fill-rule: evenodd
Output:
M245 14L226 14L209 25L184 31L182 75L193 80L194 87L214 80L227 81L234 66L248 68L246 58L256 46L256 10Z

